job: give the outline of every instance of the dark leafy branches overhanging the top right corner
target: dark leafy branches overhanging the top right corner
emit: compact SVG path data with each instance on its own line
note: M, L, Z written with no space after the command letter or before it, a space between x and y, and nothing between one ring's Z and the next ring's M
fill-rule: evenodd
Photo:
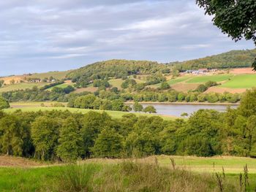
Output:
M255 0L197 0L206 15L214 15L214 25L233 40L252 39L256 45ZM256 60L252 64L256 69Z

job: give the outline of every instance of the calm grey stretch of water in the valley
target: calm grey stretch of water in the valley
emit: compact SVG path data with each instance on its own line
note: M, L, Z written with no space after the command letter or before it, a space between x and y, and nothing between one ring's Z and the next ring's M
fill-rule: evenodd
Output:
M157 114L160 115L174 115L181 117L181 114L187 112L191 115L197 110L217 110L219 112L225 112L227 105L208 105L208 104L143 104L143 107L152 105L156 108ZM237 105L230 105L232 108L238 107Z

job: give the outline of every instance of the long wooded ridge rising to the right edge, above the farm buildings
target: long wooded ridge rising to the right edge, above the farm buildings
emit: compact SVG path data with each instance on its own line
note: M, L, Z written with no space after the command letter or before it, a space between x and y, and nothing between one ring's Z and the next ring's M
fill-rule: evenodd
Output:
M225 69L252 66L256 58L256 50L232 50L219 55L212 55L206 58L198 58L190 61L172 62L169 66L175 66L176 69Z

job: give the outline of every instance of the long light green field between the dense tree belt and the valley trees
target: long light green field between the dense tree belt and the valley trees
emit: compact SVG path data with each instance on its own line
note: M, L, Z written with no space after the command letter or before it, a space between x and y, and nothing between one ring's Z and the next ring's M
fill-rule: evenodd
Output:
M24 112L37 112L39 110L42 111L49 111L49 110L69 110L70 112L81 112L83 114L86 114L89 111L96 111L96 112L103 112L102 110L86 110L86 109L76 109L76 108L70 108L70 107L41 107L41 104L44 103L45 106L50 106L50 103L54 102L28 102L28 103L23 103L23 102L14 102L11 103L10 109L4 110L5 112L15 112L15 110L22 110ZM129 114L129 112L119 112L119 111L105 111L107 112L111 117L113 118L121 118L123 115ZM139 113L135 112L135 115L138 116L147 116L147 117L152 117L152 116L160 116L165 120L175 120L176 117L172 116L164 116L164 115L153 115L153 114L145 114L145 113Z

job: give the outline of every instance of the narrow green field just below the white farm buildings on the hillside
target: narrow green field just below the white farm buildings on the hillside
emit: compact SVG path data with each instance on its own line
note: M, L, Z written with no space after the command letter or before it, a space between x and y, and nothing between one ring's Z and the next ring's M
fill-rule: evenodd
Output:
M206 75L206 76L199 76L199 77L197 76L187 80L187 83L204 83L208 81L222 82L222 81L228 80L231 77L233 77L233 74L216 74L216 75L208 75L208 76Z

